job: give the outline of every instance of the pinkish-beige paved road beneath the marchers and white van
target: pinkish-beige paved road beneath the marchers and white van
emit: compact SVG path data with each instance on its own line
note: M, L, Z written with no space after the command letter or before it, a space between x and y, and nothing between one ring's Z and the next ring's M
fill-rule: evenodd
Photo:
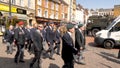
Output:
M96 46L93 40L93 37L86 37L87 50L84 52L86 65L75 63L75 68L119 68L120 59L117 59L118 49L104 49ZM25 63L15 64L14 55L16 51L11 55L7 54L5 50L6 45L0 41L0 68L29 68L29 63L34 55L30 55L25 50ZM54 58L55 60L42 59L42 68L61 68L63 65L61 56L55 54Z

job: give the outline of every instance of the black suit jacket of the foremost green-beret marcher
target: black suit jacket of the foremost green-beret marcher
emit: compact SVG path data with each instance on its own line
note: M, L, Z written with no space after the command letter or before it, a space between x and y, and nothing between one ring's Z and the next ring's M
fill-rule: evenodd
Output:
M64 61L72 61L73 54L77 54L77 50L74 48L70 35L65 33L62 37L62 59Z

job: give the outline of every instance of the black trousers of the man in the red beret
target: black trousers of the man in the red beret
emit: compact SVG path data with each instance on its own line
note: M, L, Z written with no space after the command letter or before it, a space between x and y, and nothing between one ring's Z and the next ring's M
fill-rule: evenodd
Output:
M15 55L15 60L23 60L24 57L24 45L17 45L17 52Z

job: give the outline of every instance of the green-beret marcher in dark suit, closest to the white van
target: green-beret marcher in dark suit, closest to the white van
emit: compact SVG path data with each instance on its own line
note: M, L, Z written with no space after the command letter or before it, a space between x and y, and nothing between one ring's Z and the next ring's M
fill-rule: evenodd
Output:
M85 38L82 30L83 30L82 24L79 24L78 29L75 30L75 48L77 48L80 55L78 56L78 58L76 57L75 60L78 63L84 64L84 62L82 62L82 59L83 59L82 51L85 47Z

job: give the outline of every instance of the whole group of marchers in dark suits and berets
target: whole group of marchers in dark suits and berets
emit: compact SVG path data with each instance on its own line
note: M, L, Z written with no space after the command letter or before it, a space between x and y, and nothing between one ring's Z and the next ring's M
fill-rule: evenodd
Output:
M63 68L74 68L74 62L85 64L83 61L85 50L83 30L83 24L79 24L78 28L75 28L72 23L55 25L53 22L49 22L48 25L34 22L33 26L24 26L24 22L19 21L16 27L10 25L4 33L6 52L13 53L14 43L17 47L14 58L16 64L25 62L24 49L27 49L30 54L34 54L30 68L33 68L35 62L38 68L41 68L42 55L48 54L50 60L55 60L53 57L55 53L61 55L64 61ZM43 51L44 54L42 54Z

